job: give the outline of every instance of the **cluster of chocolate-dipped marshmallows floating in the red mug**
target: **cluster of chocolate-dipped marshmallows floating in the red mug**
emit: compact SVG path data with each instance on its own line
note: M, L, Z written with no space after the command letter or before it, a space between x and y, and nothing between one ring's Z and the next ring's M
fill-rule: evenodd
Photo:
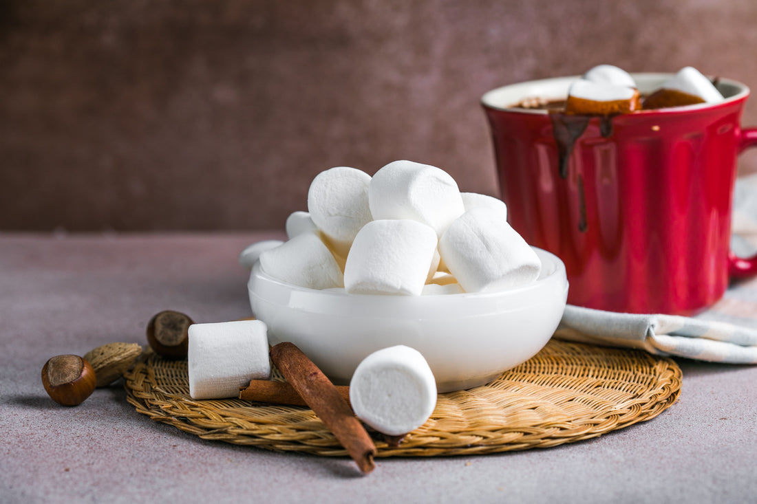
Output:
M710 79L696 68L684 67L642 101L631 74L613 65L599 65L572 82L565 112L628 114L642 108L718 103L723 99Z

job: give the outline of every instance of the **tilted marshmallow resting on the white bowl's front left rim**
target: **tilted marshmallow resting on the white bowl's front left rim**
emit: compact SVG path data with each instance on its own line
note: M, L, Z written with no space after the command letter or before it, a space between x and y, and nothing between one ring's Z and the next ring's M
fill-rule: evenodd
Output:
M260 254L260 268L281 282L311 289L344 286L329 247L315 233L304 233ZM425 273L424 273L425 274Z

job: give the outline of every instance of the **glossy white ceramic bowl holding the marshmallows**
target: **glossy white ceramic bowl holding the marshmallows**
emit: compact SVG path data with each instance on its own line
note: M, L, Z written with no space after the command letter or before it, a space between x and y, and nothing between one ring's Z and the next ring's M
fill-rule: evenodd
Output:
M284 284L255 263L252 312L270 344L296 344L335 384L348 384L369 353L397 344L418 350L439 392L477 387L541 350L565 309L568 280L558 257L534 247L542 272L506 291L378 296Z

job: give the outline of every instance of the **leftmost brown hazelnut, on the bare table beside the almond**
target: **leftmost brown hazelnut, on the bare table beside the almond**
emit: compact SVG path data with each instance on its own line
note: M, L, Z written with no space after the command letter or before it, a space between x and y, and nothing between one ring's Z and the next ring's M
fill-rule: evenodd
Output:
M42 385L62 406L76 406L95 390L95 370L78 355L52 357L42 367Z

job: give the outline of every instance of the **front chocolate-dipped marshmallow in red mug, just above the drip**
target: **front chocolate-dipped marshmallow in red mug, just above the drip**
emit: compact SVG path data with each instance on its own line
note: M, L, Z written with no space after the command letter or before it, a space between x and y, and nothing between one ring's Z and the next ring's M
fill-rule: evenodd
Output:
M566 114L628 114L640 110L637 89L578 79L568 89Z

